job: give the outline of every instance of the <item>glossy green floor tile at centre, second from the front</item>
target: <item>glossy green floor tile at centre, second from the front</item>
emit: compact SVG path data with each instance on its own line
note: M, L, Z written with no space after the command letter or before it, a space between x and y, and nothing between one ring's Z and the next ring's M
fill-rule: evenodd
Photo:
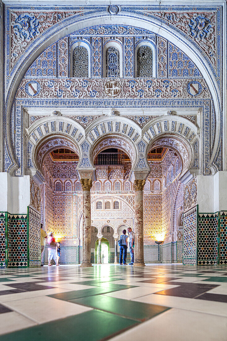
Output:
M141 322L170 309L168 307L102 295L78 298L73 300L73 302L95 309L115 313L124 317L134 318L135 320Z

